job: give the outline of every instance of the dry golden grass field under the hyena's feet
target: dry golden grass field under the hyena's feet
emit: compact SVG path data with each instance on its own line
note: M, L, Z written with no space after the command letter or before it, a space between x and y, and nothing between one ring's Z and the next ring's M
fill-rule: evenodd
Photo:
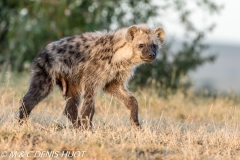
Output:
M66 101L57 88L19 126L28 84L27 74L11 73L0 83L0 159L240 159L238 95L179 92L166 99L138 90L142 130L136 131L127 108L100 91L93 130L79 131L63 116Z

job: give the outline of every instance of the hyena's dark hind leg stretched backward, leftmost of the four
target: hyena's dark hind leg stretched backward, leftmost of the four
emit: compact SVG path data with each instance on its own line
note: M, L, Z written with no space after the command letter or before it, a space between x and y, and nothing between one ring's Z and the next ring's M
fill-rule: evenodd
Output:
M19 108L19 121L28 118L32 109L52 91L54 80L44 65L37 63L33 67L33 74L27 94L22 98Z

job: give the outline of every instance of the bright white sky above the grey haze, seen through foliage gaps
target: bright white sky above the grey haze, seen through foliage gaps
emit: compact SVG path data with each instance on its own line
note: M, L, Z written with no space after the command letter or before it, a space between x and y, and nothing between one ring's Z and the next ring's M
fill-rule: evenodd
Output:
M210 23L215 22L216 28L207 35L208 42L227 43L233 45L240 45L240 1L237 0L213 0L215 3L223 5L224 8L220 14L210 15L198 6L194 6L194 2L188 1L187 7L193 12L191 20L200 29L207 27ZM160 3L160 2L158 2ZM178 16L174 13L165 13L166 16L162 20L165 25L165 30L176 38L181 38L183 30L176 25Z

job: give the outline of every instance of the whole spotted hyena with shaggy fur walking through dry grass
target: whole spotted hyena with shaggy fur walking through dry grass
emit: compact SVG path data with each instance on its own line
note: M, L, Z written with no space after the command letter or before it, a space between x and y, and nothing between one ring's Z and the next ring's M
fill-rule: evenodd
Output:
M115 32L87 32L48 44L33 60L30 87L21 100L20 122L57 84L67 99L64 114L74 127L91 126L98 88L122 101L130 110L131 124L139 127L138 103L127 83L136 66L156 58L164 40L162 28L133 25Z

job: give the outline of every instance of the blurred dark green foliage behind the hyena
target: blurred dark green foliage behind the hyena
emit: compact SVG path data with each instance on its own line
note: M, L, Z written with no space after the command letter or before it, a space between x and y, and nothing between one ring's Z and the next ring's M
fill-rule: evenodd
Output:
M192 3L209 15L221 9L212 0ZM208 48L202 41L214 25L197 29L190 20L193 11L188 9L186 0L1 0L0 71L9 67L22 71L48 43L65 36L143 22L167 28L161 21L167 16L165 12L177 13L177 23L183 26L186 40L177 51L172 51L172 41L167 41L152 65L138 68L133 84L152 84L163 90L186 88L189 83L182 82L182 78L215 59L202 56Z

